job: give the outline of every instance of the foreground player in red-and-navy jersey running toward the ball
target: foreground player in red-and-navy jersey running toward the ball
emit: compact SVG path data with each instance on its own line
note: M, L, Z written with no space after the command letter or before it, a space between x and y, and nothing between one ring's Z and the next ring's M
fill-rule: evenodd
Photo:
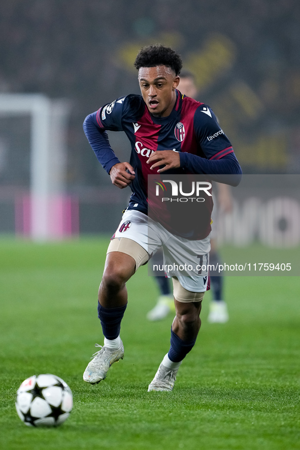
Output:
M151 252L147 232L147 175L159 176L166 171L167 174L233 174L238 180L232 181L232 185L238 185L242 176L234 150L221 132L213 111L178 91L180 56L169 47L151 45L140 50L135 67L142 95L119 97L84 121L88 141L113 185L120 189L130 186L132 191L129 205L109 244L98 291L98 317L104 345L96 344L101 349L83 374L83 379L91 384L103 380L110 366L124 356L120 326L127 305L126 282L149 260ZM126 133L131 144L130 162L118 160L106 130ZM212 208L212 202L206 204L207 208ZM207 209L202 236L192 241L149 220L157 249L162 246L175 262L178 262L178 253L174 255L174 248L189 255L190 261L208 258L210 213ZM170 350L148 391L172 391L179 366L194 346L201 326L199 315L207 289L207 274L179 275L172 280L176 316L171 328Z

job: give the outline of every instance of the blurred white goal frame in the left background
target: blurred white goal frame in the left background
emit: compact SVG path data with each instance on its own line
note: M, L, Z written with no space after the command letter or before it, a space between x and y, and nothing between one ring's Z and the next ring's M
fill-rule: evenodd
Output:
M69 113L70 104L65 100L51 100L42 94L0 94L0 116L30 116L27 220L29 235L35 241L59 237L59 233L51 229L50 203L65 191L65 137Z

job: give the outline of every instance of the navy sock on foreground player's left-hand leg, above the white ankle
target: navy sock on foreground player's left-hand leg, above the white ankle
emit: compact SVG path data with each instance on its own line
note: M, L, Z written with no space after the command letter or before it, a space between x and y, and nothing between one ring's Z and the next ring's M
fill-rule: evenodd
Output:
M121 320L127 305L120 308L104 308L98 302L98 318L101 321L102 331L106 339L117 339L120 334Z

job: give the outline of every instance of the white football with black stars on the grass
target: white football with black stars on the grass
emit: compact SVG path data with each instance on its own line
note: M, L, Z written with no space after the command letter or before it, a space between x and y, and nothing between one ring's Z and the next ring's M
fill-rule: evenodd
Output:
M16 410L28 427L57 427L69 417L72 407L71 389L56 375L33 375L17 392Z

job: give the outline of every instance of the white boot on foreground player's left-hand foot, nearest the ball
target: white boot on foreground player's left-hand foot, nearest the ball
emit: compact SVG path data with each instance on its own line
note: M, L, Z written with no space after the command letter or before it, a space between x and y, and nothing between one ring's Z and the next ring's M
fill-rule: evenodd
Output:
M93 354L95 357L88 363L83 374L84 381L91 384L96 384L101 380L104 380L111 365L124 357L124 346L122 341L117 350L99 344L95 344L95 347L101 347L101 350Z

